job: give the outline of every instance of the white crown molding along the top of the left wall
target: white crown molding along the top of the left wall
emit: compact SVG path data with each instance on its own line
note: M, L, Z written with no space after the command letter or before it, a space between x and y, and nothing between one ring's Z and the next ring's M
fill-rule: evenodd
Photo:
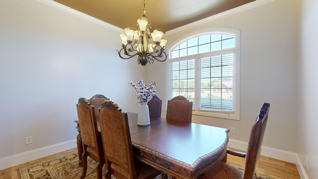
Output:
M117 27L117 26L115 26L115 25L112 25L112 24L110 24L110 23L107 23L107 22L105 22L105 21L99 20L99 19L97 19L97 18L95 18L95 17L92 17L92 16L90 16L90 15L87 15L87 14L85 14L85 13L82 13L82 12L80 12L80 11L78 11L78 10L75 10L75 9L73 9L73 8L71 8L71 7L68 7L68 6L66 6L66 5L63 5L63 4L61 4L61 3L59 3L59 2L56 2L56 1L54 1L54 0L38 0L38 1L39 1L39 2L42 2L42 3L45 3L45 4L48 4L48 5L52 6L52 7L58 8L58 9L60 9L60 10L69 12L69 13L71 13L71 14L73 14L73 15L76 15L76 16L78 16L78 17L80 17L80 18L89 20L89 21L91 21L91 22L94 22L94 23L99 24L99 25L101 25L101 26L104 26L104 27L106 27L106 28L110 28L110 29L115 30L115 31L118 31L118 32L120 32L120 33L123 32L123 29L122 29L122 28L119 28L119 27Z

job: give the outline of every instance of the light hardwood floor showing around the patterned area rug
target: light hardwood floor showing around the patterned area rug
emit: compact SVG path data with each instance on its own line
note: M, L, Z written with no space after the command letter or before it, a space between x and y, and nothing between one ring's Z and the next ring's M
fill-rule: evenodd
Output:
M21 164L15 167L11 167L8 169L4 169L0 171L0 179L19 179L19 174L17 169L23 166L27 166L33 163L37 163L41 160L45 160L51 157L58 156L60 154L67 153L69 151L73 151L77 149L71 149L68 151L64 151L62 153L54 154L52 156L48 156L42 159L38 159L35 161L31 161L25 164ZM235 150L235 149L234 149ZM240 157L235 157L228 155L228 161L244 166L244 159ZM298 170L296 168L295 164L280 161L277 159L269 158L260 156L257 166L257 173L266 175L268 177L274 178L274 179L300 179Z

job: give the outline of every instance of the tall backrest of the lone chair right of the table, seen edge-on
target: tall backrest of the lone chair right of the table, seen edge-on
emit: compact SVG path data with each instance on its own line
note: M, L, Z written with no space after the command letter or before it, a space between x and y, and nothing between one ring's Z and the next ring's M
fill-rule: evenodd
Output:
M257 161L261 153L261 146L268 119L269 103L264 103L253 122L246 150L243 179L252 179Z

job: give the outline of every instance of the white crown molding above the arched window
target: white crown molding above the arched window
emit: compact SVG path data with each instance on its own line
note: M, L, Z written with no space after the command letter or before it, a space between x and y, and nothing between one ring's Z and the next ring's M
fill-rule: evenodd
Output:
M185 29L188 29L188 28L196 27L198 25L201 25L201 24L204 24L204 23L207 23L207 22L211 22L211 21L214 21L216 19L223 18L223 17L229 16L229 15L233 15L233 14L236 14L238 12L241 12L241 11L244 11L244 10L247 10L247 9L250 9L250 8L254 8L254 7L257 7L257 6L263 5L265 3L272 2L272 1L274 1L274 0L255 0L255 1L252 1L252 2L249 2L249 3L246 3L244 5L241 5L239 7L235 7L233 9L230 9L230 10L227 10L227 11L212 15L210 17L206 17L204 19L201 19L201 20L198 20L198 21L183 25L181 27L166 31L165 35L174 34L176 32L179 32L179 31L182 31L182 30L185 30Z

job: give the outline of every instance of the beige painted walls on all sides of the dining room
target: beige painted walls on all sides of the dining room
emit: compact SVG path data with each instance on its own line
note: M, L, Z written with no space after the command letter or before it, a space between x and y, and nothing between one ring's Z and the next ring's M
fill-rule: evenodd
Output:
M309 178L318 175L318 143L313 135L318 128L314 113L318 100L312 95L317 89L317 8L316 0L274 0L164 36L168 49L200 29L240 30L241 120L193 116L193 121L235 127L236 134L230 138L247 141L260 105L269 102L263 145L298 153L304 168L308 157ZM136 112L135 91L129 81L158 83L165 116L166 63L143 68L136 60L120 59L116 50L121 32L116 28L38 0L1 1L0 26L0 159L74 140L75 104L81 96L105 94L124 111ZM26 136L33 136L33 144L24 145Z

